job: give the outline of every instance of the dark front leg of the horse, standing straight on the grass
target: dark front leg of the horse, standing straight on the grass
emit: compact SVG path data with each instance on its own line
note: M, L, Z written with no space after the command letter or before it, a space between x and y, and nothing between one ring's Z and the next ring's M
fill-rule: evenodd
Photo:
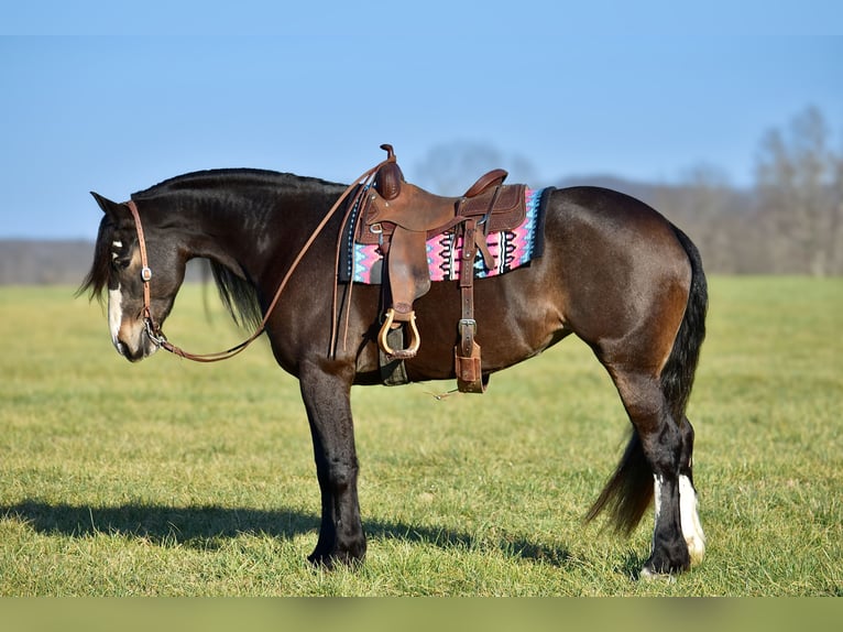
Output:
M342 373L335 374L317 364L304 366L299 373L322 505L319 540L308 559L327 567L365 557L357 492L351 379Z

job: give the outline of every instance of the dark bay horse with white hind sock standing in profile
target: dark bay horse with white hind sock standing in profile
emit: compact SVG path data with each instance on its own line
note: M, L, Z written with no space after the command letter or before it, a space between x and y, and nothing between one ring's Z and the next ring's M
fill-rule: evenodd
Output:
M168 179L134 194L133 204L94 194L105 216L80 288L108 293L112 342L133 362L164 341L149 323L164 323L193 258L210 261L237 322L264 322L275 359L300 383L321 490L321 525L309 559L326 566L365 555L350 391L381 383L380 288L354 285L339 316L332 308L342 214L327 215L343 192L344 185L311 177L219 170ZM142 239L135 217L142 218ZM570 334L584 340L614 381L633 427L588 517L606 510L629 533L655 497L652 553L642 575L686 570L705 546L691 473L693 429L685 414L708 306L699 252L644 203L595 187L551 190L544 231L544 253L530 265L475 281L482 372L532 358ZM425 339L406 361L410 381L455 378L457 285L434 283L416 302ZM347 344L335 346L337 318L346 319Z

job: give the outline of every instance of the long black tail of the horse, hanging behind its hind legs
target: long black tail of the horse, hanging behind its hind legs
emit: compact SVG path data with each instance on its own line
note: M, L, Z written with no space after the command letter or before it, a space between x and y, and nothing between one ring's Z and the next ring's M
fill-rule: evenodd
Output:
M685 410L693 386L700 348L705 338L709 291L699 250L679 228L672 226L672 229L691 264L691 286L674 348L661 370L661 391L670 406L672 418L682 426L686 423ZM617 468L589 510L585 520L591 521L603 510L607 510L609 520L615 529L629 534L641 522L652 500L653 472L644 456L638 433L633 428Z

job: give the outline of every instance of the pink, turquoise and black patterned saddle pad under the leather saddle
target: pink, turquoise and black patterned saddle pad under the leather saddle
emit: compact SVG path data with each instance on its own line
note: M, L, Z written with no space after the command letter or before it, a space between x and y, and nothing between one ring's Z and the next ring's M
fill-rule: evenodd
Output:
M478 251L474 260L474 277L486 279L504 274L529 263L540 257L544 250L544 214L547 192L550 188L525 189L526 217L514 230L493 232L488 236L489 251L495 264L489 270ZM380 285L383 271L383 257L376 243L362 244L353 239L358 214L352 213L349 226L343 230L340 252L339 280L352 281L366 285ZM460 277L460 257L462 237L455 232L437 235L427 240L427 262L430 266L430 281L456 281Z

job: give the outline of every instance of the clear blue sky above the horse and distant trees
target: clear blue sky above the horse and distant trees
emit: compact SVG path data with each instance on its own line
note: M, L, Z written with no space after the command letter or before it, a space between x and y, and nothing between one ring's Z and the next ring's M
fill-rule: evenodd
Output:
M536 186L700 165L744 186L764 133L814 106L843 150L831 1L10 4L0 238L94 238L89 190L200 168L349 182L383 142L423 185L435 148L472 143Z

